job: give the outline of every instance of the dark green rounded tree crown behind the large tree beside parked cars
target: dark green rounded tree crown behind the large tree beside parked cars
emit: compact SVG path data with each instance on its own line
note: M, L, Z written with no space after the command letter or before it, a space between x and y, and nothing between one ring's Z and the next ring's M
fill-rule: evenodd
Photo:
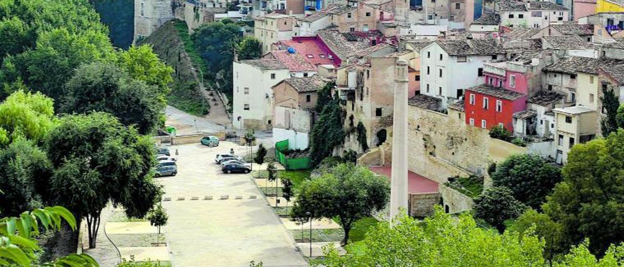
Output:
M108 112L124 125L136 125L149 134L160 125L165 103L158 88L131 79L124 70L110 63L80 66L67 82L66 113Z

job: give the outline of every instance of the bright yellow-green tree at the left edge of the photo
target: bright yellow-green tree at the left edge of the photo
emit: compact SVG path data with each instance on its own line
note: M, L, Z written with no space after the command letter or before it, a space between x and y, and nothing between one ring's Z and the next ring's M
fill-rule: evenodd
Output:
M42 94L17 91L0 104L0 145L19 138L35 143L54 127L52 99Z

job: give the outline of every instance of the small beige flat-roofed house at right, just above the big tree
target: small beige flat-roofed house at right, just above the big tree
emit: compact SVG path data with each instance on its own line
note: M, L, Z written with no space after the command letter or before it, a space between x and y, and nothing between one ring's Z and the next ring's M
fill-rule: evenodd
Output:
M565 164L568 161L568 152L575 144L588 142L596 136L598 112L580 105L552 111L555 112L557 132L555 162Z

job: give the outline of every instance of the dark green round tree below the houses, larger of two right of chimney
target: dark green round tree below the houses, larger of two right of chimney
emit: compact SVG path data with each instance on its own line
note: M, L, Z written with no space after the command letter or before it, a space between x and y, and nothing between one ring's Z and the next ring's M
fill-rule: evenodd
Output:
M538 155L511 155L492 174L495 187L507 187L514 198L532 208L539 208L561 182L561 170Z

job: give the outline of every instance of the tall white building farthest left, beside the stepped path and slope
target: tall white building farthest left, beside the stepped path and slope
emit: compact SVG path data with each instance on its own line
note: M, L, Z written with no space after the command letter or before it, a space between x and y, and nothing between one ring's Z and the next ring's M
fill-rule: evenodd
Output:
M277 59L234 62L232 125L236 129L271 129L271 87L290 78L290 71Z

